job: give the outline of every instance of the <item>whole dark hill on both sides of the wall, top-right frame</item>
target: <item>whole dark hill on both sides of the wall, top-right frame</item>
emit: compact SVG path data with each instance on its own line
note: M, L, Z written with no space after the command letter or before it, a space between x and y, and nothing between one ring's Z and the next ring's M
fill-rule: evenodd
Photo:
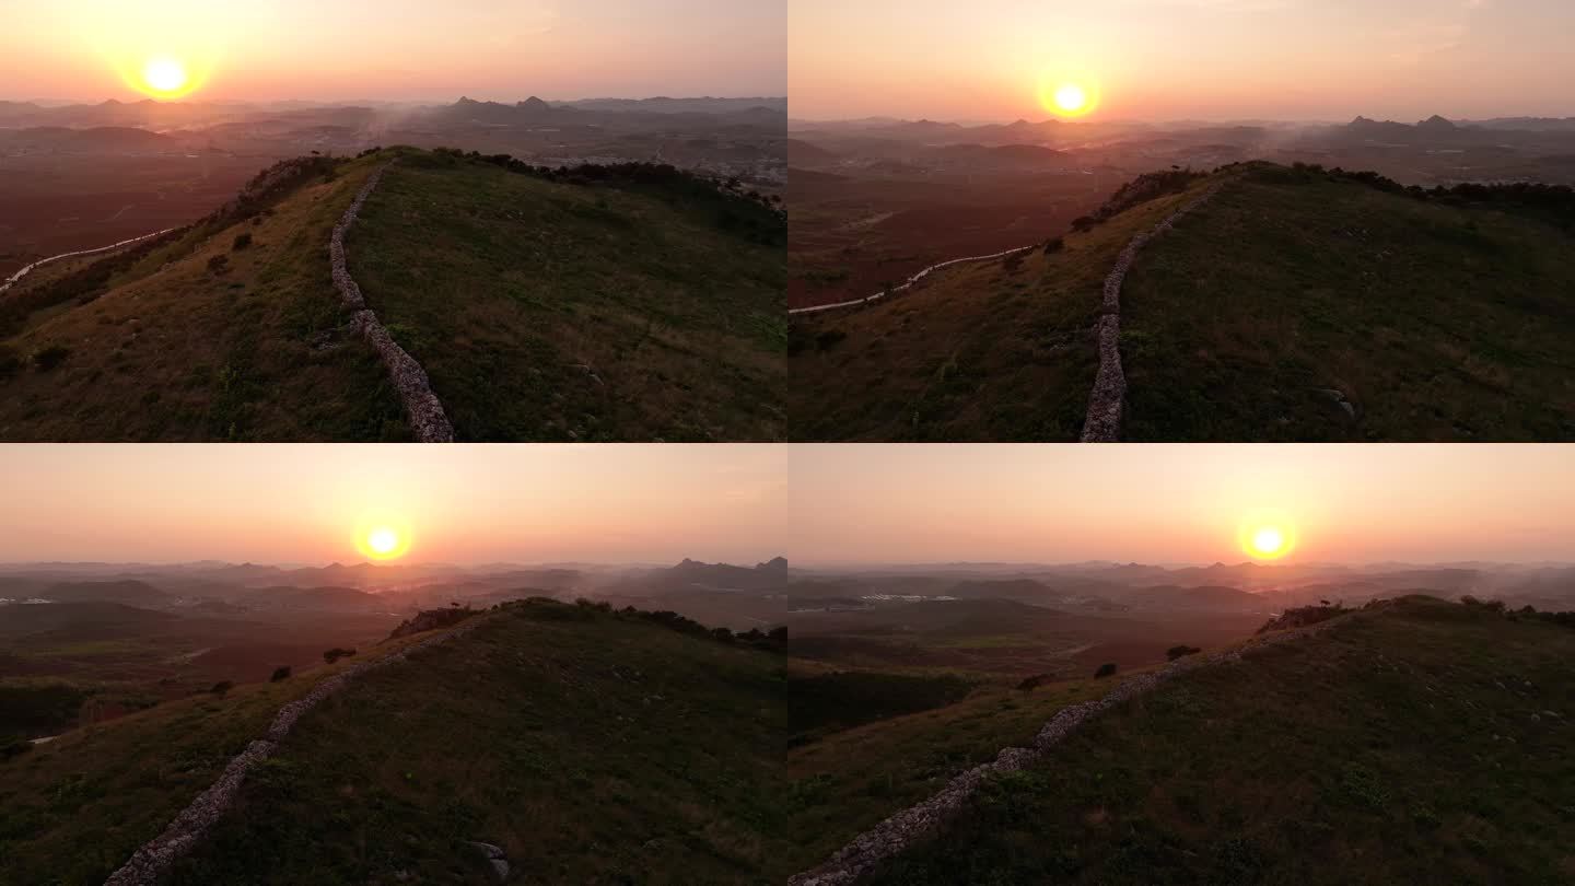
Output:
M1575 438L1567 188L1268 162L1143 177L1065 236L797 315L794 435L1079 438L1106 279L1172 218L1120 287L1121 440Z

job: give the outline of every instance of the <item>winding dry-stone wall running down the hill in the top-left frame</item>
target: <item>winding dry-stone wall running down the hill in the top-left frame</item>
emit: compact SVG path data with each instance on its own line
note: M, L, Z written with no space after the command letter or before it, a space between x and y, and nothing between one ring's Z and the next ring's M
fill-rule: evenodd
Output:
M383 366L387 367L389 377L394 380L394 388L405 405L405 415L411 430L416 434L416 440L422 443L454 443L454 426L449 424L449 416L443 411L438 396L432 393L432 380L427 378L427 370L405 348L398 347L394 336L378 322L378 315L367 307L367 300L361 293L361 287L356 285L354 277L350 276L346 263L345 233L356 224L361 207L365 205L367 197L372 195L372 191L376 189L378 181L383 180L383 173L391 166L394 166L394 161L381 166L367 178L367 183L356 194L354 202L345 210L345 216L334 225L334 235L328 241L329 270L334 276L334 289L339 290L343 306L351 312L351 323L356 331L383 358Z

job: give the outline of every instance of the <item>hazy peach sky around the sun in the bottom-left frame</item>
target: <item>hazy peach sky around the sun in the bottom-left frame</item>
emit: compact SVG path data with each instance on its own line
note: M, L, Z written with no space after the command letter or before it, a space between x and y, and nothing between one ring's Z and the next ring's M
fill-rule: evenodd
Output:
M0 446L0 563L356 563L358 520L406 561L754 564L783 552L781 446Z

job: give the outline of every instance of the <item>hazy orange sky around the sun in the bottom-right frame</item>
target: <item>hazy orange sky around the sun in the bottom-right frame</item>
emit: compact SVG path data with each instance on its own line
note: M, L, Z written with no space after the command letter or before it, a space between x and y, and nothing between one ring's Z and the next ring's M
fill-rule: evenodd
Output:
M797 564L1575 561L1575 446L794 446Z

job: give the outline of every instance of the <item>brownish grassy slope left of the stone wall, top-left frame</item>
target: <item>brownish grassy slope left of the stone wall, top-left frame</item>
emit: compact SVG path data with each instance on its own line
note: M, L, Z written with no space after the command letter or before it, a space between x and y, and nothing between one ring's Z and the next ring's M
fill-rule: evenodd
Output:
M0 328L0 440L408 438L328 273L329 232L375 162L118 252L93 265L106 279Z

